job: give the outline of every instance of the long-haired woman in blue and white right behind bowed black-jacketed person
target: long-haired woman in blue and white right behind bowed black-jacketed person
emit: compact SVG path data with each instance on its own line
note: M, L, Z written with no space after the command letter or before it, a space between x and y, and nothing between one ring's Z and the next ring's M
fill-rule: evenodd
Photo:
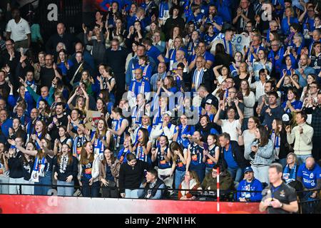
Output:
M136 155L138 160L148 162L148 164L151 165L153 162L151 156L151 147L152 143L151 140L149 140L148 130L146 128L140 128L138 130L138 138L133 144L133 154Z

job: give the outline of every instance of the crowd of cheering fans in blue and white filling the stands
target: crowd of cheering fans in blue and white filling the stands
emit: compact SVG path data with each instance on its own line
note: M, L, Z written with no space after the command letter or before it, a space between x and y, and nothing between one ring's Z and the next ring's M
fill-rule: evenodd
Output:
M19 9L0 11L0 193L195 199L220 175L222 190L260 201L279 162L318 197L317 1L101 6L82 33L58 23L48 40Z

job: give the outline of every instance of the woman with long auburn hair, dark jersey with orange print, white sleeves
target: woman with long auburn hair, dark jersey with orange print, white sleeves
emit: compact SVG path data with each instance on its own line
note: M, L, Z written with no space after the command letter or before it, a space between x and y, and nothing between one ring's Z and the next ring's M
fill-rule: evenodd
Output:
M99 195L99 163L100 158L93 152L93 144L85 142L78 164L78 181L83 197L98 197Z

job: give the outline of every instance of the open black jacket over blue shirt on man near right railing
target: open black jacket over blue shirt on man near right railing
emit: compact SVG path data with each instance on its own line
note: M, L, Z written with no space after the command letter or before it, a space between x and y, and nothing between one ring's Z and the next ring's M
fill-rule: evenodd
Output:
M247 167L249 165L248 161L245 160L244 151L241 150L240 146L238 145L238 142L230 141L230 145L231 145L231 150L232 150L234 160L236 163L238 163L238 167L240 167L242 169ZM225 158L224 158L223 147L220 147L220 158L219 158L218 163L223 165L223 167L225 167L225 169L228 168L228 163L225 161Z

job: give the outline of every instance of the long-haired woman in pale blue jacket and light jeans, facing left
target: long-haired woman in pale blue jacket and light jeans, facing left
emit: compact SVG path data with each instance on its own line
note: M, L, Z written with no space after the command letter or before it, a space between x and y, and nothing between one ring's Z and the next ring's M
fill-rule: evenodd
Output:
M250 144L250 161L254 171L254 177L262 183L269 183L268 170L270 164L275 160L273 142L269 139L267 129L260 125L255 130L255 140Z

